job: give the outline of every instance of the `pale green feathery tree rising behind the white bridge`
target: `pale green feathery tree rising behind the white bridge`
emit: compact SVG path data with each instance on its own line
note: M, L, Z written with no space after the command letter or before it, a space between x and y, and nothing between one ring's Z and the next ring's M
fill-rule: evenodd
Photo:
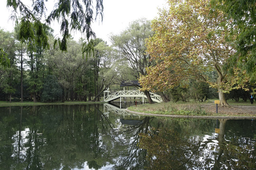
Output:
M145 76L146 67L151 66L150 55L146 53L145 40L151 37L154 32L151 29L150 21L145 18L133 21L130 26L119 35L112 35L111 41L114 49L117 50L119 59L118 61L131 72L132 76L138 79L141 75ZM120 73L121 76L125 75L124 81L128 81L126 74ZM139 86L140 87L140 86ZM143 90L147 96L148 102L153 103L148 90Z

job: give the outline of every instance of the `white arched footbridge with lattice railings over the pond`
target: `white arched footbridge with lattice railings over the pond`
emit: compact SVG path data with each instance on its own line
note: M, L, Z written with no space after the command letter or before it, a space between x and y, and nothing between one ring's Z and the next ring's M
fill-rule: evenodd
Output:
M121 90L115 93L111 93L109 90L104 91L104 102L111 102L117 99L120 99L120 102L122 98L127 97L140 97L142 98L142 102L144 103L144 98L147 98L146 95L139 90ZM163 102L162 97L155 93L150 93L150 97L153 100L153 102Z

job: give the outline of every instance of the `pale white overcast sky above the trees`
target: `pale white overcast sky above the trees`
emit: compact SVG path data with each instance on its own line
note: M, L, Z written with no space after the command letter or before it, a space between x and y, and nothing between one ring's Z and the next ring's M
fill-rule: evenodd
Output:
M27 1L27 0L22 0ZM94 21L92 30L96 33L97 38L101 38L110 44L110 33L119 34L124 31L134 20L145 17L148 20L157 18L158 8L164 8L167 0L103 0L104 17ZM48 12L57 0L48 0L46 8ZM6 31L13 31L14 22L9 19L11 9L6 7L6 0L0 0L0 27ZM59 24L54 23L51 27L55 30L55 35L60 35ZM75 40L81 36L79 32L72 33Z

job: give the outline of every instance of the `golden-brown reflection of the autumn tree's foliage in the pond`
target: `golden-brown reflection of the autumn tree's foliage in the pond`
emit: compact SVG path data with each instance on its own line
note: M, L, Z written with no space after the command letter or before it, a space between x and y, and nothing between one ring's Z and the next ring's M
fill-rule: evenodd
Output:
M208 142L201 144L181 134L175 128L153 128L147 134L140 134L139 147L147 151L148 165L146 169L185 170L192 169L192 167L200 168L201 162L198 161L197 151L204 148Z

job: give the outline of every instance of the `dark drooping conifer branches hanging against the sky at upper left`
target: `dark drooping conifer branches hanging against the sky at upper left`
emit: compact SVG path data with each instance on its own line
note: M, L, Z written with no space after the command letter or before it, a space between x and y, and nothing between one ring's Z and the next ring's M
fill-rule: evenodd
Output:
M23 0L24 1L24 0ZM58 21L62 39L60 42L60 50L67 50L67 39L70 37L72 30L80 31L86 34L87 40L95 37L95 33L91 29L93 21L93 5L92 0L59 0L48 17L46 22L42 21L42 17L46 16L46 5L48 0L31 0L32 9L30 9L22 0L7 0L7 7L14 10L13 18L18 21L18 15L21 15L21 28L19 40L22 42L35 39L39 44L45 44L47 39L46 28L53 22ZM103 18L103 0L96 0L96 17ZM36 23L33 27L32 23ZM35 31L33 31L35 30ZM35 32L36 35L33 33ZM44 46L46 48L46 46Z

